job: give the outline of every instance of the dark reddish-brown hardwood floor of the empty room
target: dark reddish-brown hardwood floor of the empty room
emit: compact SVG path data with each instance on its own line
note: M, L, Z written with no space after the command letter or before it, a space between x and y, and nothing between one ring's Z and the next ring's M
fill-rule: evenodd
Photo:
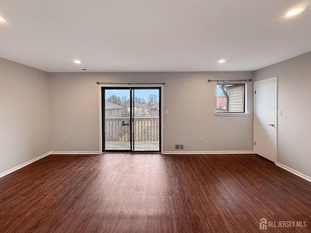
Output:
M50 155L0 178L0 233L26 232L310 233L311 183L253 154Z

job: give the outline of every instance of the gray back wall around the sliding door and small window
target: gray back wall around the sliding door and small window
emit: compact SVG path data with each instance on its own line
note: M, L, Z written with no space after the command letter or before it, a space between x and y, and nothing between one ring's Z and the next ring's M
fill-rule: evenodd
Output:
M215 116L216 83L207 82L250 78L252 72L51 73L51 150L99 150L96 82L166 83L164 151L174 151L176 143L184 143L185 151L253 150L253 83L247 86L251 115Z

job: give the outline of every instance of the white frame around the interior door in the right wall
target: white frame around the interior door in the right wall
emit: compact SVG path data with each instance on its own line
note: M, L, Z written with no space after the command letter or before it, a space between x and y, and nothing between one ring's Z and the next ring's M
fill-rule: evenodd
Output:
M254 151L254 154L256 154L256 146L255 146L255 142L256 142L256 138L255 138L255 114L256 114L256 104L255 104L255 98L256 98L256 94L255 94L255 84L257 83L263 83L263 82L268 82L268 81L274 81L275 82L275 130L274 130L274 162L276 164L277 162L277 127L278 127L278 124L277 124L277 76L276 77L272 77L272 78L268 78L268 79L263 79L263 80L259 80L259 81L255 81L253 83L253 89L254 89L254 93L253 93L253 101L254 101L254 116L253 116L253 151Z

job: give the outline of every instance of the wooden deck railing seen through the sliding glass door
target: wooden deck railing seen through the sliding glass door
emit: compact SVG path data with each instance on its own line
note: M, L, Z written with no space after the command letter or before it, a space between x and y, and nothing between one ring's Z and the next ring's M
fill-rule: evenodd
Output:
M129 117L106 117L104 124L106 142L130 141ZM159 118L135 117L133 130L136 142L159 141Z

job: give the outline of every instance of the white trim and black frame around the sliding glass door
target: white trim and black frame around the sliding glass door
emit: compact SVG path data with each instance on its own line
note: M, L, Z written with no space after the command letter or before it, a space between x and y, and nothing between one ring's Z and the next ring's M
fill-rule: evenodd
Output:
M153 87L156 89L159 89L160 95L159 95L159 102L160 102L160 142L159 142L159 150L160 151L150 151L150 152L162 152L163 151L163 96L164 96L164 85L163 84L99 84L99 153L102 154L104 151L104 143L103 143L103 107L104 107L104 101L103 101L103 93L102 89L113 89L113 88L120 88L120 89L129 89L129 88L137 88L137 89L152 89ZM131 126L132 127L132 126ZM132 134L132 132L131 132ZM132 135L131 135L132 137ZM132 144L132 142L131 142ZM132 145L131 145L132 150ZM127 152L146 152L146 151L131 151L126 150ZM124 152L126 152L124 151ZM116 150L118 152L118 150Z

